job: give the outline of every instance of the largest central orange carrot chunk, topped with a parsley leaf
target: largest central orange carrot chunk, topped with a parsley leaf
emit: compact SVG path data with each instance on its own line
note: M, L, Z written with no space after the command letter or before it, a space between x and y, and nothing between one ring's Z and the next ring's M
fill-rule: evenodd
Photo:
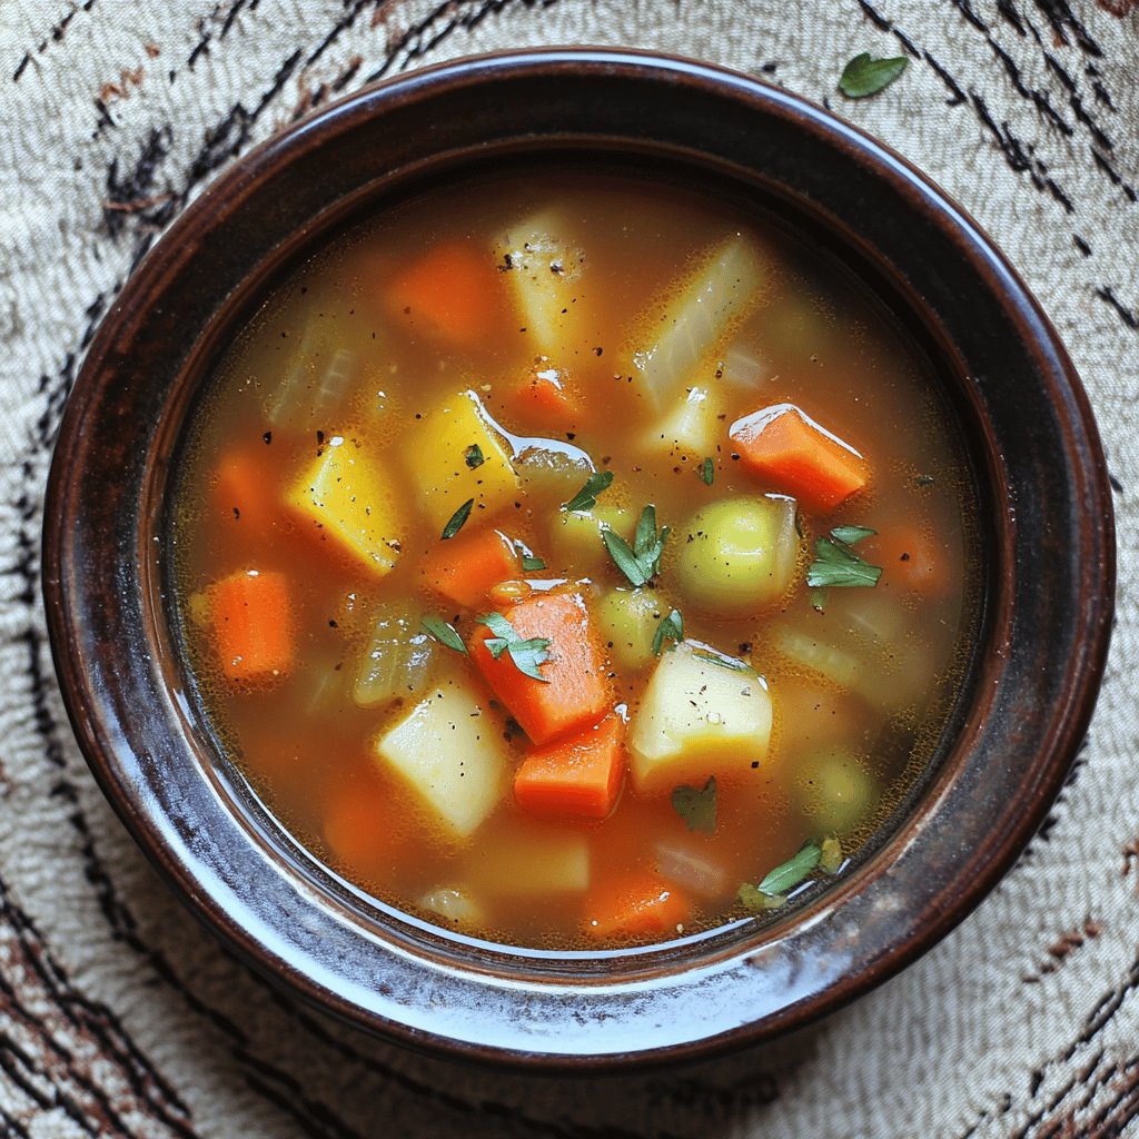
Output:
M523 640L547 639L543 680L519 671L509 653L495 661L480 625L469 644L470 658L495 696L535 744L548 744L583 728L608 711L612 698L605 654L581 593L534 593L502 614Z

